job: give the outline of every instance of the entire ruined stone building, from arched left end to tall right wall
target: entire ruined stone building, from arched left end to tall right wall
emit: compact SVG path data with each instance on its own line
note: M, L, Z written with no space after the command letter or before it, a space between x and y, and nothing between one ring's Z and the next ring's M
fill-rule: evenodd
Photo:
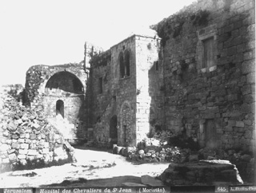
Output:
M87 44L84 65L31 67L31 105L102 145L134 146L160 128L201 147L252 151L254 7L198 0L152 26L158 36L135 33L105 52Z

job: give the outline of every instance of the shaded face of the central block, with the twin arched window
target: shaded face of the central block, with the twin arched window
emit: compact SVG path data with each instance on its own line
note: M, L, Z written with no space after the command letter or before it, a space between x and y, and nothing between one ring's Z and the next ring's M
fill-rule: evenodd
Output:
M135 144L135 107L136 107L136 76L134 37L127 38L110 50L94 56L91 63L92 82L90 85L93 95L94 136L99 144L111 144L110 120L117 116L117 125L114 129L118 132L118 144ZM130 75L120 77L120 53L130 54ZM102 85L100 85L102 81ZM99 87L102 86L102 91ZM130 110L128 110L128 108ZM125 108L122 108L124 106ZM124 128L123 124L126 123ZM127 132L125 131L128 129ZM129 134L128 134L129 133ZM127 139L124 139L124 137ZM130 142L126 141L130 139Z

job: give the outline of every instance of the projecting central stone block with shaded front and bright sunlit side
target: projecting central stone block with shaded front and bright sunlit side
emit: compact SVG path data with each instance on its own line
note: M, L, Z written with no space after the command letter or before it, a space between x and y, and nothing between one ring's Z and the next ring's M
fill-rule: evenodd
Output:
M133 35L92 57L89 88L94 100L90 109L99 144L117 140L118 145L135 146L150 133L150 120L156 124L162 102L162 73L155 70L158 48L158 38ZM117 131L117 139L111 139L114 129L110 127Z

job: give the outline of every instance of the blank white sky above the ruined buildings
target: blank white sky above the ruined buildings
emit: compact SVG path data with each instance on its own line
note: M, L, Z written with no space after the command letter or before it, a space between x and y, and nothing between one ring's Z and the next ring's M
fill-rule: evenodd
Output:
M80 62L85 41L110 49L196 0L0 0L0 85L32 65Z

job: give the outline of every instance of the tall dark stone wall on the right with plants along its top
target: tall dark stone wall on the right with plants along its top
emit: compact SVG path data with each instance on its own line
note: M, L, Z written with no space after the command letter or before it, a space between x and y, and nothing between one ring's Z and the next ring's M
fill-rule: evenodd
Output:
M154 26L166 128L202 147L256 149L254 17L254 1L201 0Z

